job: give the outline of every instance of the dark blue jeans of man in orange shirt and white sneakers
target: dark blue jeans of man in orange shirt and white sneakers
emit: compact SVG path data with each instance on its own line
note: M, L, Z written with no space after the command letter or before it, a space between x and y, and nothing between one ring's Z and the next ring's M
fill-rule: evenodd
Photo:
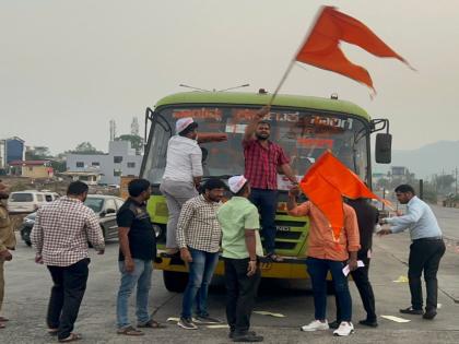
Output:
M341 310L341 321L351 321L352 299L348 286L348 277L344 276L342 269L344 263L328 259L317 259L308 257L307 272L313 283L315 319L327 319L327 273L330 271L333 278L333 286L338 304Z

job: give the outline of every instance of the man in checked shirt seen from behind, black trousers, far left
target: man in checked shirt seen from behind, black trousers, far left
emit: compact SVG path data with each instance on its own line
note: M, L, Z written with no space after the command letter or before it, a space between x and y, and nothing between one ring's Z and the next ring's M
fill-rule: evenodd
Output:
M54 286L49 299L47 324L59 342L71 342L81 336L73 333L73 324L86 289L90 264L87 242L98 254L105 244L98 218L83 204L87 185L73 181L67 197L42 206L31 233L36 249L35 261L47 265Z

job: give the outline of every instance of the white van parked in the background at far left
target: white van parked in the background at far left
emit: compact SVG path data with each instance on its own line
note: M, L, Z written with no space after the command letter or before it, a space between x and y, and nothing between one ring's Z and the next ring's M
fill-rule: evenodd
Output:
M11 214L32 213L43 204L58 199L59 194L50 191L25 190L10 193L8 210Z

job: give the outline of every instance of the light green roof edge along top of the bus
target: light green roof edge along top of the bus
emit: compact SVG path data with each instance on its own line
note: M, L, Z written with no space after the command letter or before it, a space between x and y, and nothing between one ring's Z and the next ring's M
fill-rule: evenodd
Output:
M225 104L225 105L259 105L263 106L269 103L271 94L258 94L258 93L243 93L243 92L183 92L168 95L160 99L155 107L163 107L168 105L189 105L189 104ZM369 115L361 108L348 100L313 97L313 96L299 96L299 95L286 95L279 94L273 106L285 106L294 108L305 109L319 109L327 111L337 111L344 114L352 114L369 120Z

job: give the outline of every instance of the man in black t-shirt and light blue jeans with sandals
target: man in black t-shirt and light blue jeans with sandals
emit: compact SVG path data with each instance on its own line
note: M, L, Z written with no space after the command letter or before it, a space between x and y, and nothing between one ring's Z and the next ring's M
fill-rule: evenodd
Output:
M119 237L119 271L121 284L117 299L118 334L143 335L132 327L128 317L128 303L137 285L136 315L138 328L163 328L149 313L149 292L151 286L153 260L156 257L156 237L145 202L150 199L150 182L133 179L129 182L129 199L117 214Z

